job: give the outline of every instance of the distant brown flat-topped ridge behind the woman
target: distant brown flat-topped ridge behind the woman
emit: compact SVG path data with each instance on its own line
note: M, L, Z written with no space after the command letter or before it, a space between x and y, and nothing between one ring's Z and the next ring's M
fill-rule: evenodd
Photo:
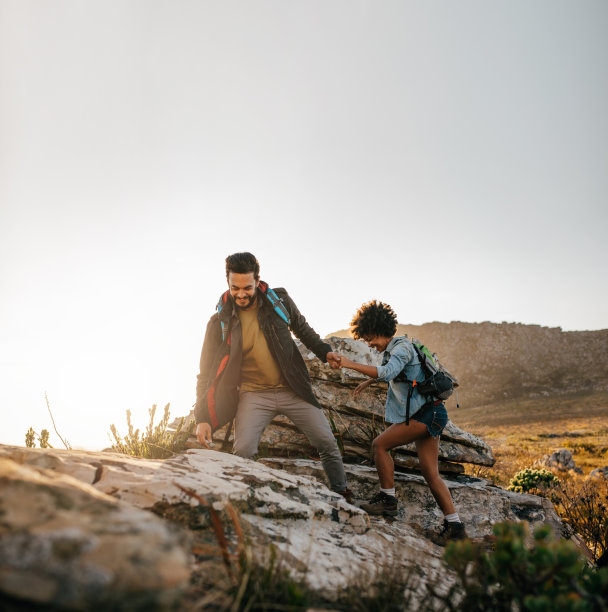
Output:
M463 405L608 391L608 329L565 332L521 323L454 321L400 324L397 335L416 338L439 355L460 381Z

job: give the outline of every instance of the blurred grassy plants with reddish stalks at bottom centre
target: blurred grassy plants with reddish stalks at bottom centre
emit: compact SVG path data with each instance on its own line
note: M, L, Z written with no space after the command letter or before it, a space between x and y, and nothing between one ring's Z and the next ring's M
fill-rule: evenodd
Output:
M224 525L218 511L204 498L180 488L209 513L216 539L215 554L208 544L193 549L204 564L204 570L197 572L193 592L183 602L183 609L304 612L318 608L344 612L405 612L415 603L412 592L419 586L420 578L414 569L403 570L397 558L400 551L394 557L387 553L371 570L354 574L348 586L336 591L337 597L330 601L310 588L305 573L294 573L272 543L254 546L248 541L231 504L224 506L224 514L230 521ZM229 542L229 530L234 533L236 545ZM219 559L223 563L218 563ZM417 605L416 609L433 609L434 601L429 599L428 605Z

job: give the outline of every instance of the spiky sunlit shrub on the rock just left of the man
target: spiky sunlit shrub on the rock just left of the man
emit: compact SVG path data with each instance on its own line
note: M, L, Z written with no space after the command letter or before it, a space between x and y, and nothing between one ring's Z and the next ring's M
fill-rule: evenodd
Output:
M182 419L177 429L171 431L167 429L169 425L169 404L165 406L163 418L156 426L154 425L156 404L148 412L150 414L150 423L141 437L139 429L133 429L130 410L127 410L127 427L129 432L124 438L119 435L114 424L110 425L110 431L114 436L112 450L117 453L125 453L135 457L146 457L148 459L167 459L185 450L186 442L194 430L194 422L191 422L184 429L184 419Z

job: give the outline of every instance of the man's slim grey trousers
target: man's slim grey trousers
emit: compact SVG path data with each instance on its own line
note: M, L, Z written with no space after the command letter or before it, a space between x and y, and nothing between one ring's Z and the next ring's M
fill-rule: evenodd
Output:
M264 429L283 414L317 449L333 491L346 489L346 474L329 423L322 410L304 401L291 389L268 389L241 393L234 421L233 453L250 459L258 452Z

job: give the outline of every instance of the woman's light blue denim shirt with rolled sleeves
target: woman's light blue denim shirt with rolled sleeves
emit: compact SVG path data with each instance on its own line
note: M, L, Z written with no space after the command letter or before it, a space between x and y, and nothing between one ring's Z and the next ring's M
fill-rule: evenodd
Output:
M384 414L384 420L388 423L405 422L409 385L393 380L404 368L408 380L424 380L424 372L412 343L403 336L395 336L382 354L382 365L378 366L377 378L388 382ZM414 387L410 400L410 417L416 414L426 401L427 398L420 395Z

